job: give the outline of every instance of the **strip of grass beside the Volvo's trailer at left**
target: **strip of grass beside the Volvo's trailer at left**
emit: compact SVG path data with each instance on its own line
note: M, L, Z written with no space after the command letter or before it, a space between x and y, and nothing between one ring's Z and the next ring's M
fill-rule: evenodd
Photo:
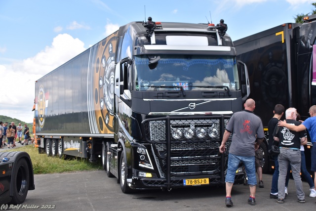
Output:
M7 151L27 152L31 157L34 174L62 173L102 169L102 165L99 162L90 163L88 159L84 158L72 157L69 159L59 159L58 157L47 157L46 154L39 154L39 149L35 148L34 145L28 145Z

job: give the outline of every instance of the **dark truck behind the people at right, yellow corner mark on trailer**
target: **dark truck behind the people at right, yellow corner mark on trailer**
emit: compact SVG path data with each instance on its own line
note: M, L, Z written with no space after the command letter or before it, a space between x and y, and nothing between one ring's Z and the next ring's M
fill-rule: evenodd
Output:
M237 59L248 67L249 97L256 101L255 113L262 118L266 132L271 132L267 126L276 104L295 107L303 121L316 105L315 41L316 15L311 15L303 24L282 24L234 42ZM305 146L308 169L312 146L310 141ZM269 166L264 169L269 171Z

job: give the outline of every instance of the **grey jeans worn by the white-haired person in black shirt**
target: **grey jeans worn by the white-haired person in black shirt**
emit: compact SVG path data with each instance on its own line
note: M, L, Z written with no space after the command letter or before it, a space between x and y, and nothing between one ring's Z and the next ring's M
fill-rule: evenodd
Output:
M279 176L277 181L277 196L279 199L285 198L285 179L287 175L288 165L291 165L292 176L295 183L297 198L305 199L303 185L301 180L301 152L299 149L293 150L288 148L280 148L280 154L277 157Z

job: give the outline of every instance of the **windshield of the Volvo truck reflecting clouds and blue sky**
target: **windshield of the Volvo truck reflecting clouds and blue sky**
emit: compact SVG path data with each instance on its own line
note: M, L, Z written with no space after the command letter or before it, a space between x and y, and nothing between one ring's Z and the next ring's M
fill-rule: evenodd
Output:
M134 61L135 90L239 89L233 56L136 55Z

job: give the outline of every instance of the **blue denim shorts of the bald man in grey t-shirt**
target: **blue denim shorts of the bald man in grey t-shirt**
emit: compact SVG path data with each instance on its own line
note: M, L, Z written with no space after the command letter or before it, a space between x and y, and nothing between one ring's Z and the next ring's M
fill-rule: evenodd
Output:
M255 156L238 156L231 153L228 154L228 167L225 182L235 182L236 171L240 162L245 166L248 184L257 185Z

